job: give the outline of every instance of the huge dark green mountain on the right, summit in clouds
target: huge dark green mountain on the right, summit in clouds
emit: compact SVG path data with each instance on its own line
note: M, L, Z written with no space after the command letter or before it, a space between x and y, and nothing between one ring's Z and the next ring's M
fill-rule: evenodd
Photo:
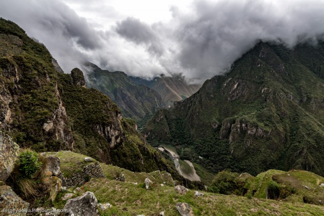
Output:
M260 41L231 70L159 110L143 132L214 172L270 168L324 176L324 42Z

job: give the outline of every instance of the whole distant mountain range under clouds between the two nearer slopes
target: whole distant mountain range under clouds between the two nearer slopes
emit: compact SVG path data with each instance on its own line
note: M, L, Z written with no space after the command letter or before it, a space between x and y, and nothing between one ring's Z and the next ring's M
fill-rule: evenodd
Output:
M123 115L134 119L139 126L144 125L158 109L189 97L200 87L187 84L181 75L146 80L121 71L102 70L90 62L85 63L85 67L88 71L87 86L109 96Z

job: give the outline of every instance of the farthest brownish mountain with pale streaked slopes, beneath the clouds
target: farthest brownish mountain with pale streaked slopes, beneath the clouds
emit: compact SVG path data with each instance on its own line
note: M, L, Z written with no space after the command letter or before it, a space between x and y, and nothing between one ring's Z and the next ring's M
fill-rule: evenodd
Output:
M131 79L134 83L145 84L158 92L162 101L167 105L173 105L176 101L190 97L201 87L199 84L188 84L181 74L159 76L149 81L132 76Z

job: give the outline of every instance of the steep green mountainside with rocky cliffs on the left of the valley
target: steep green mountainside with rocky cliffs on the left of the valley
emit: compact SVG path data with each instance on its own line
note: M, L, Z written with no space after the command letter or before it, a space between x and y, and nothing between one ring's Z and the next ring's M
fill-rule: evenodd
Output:
M86 88L82 71L61 73L52 59L17 24L0 19L1 131L20 148L70 150L133 171L160 169L178 176L133 120L103 93Z

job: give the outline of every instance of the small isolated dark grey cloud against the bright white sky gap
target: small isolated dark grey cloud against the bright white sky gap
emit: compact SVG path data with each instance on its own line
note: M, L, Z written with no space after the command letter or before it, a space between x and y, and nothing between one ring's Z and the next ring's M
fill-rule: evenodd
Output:
M126 20L117 23L116 32L134 41L138 45L144 45L152 54L162 55L164 52L163 46L160 44L160 39L151 26L141 22L139 19L128 17Z

